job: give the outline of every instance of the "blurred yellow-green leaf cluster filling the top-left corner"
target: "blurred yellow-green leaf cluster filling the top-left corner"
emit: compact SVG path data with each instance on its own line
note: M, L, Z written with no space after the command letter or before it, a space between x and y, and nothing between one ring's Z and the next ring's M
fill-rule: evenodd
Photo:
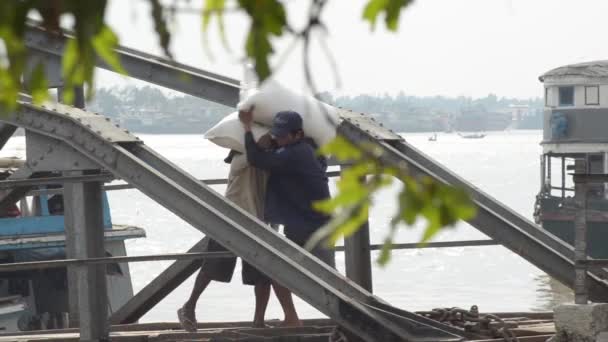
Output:
M94 89L94 67L97 58L108 63L115 71L125 73L114 51L118 45L116 34L104 23L106 0L63 1L0 1L0 42L5 54L0 55L0 108L11 110L17 106L21 89L21 76L29 71L25 85L36 103L48 97L44 66L28 66L27 48L24 43L27 16L37 13L40 25L47 31L61 33L59 27L63 15L74 18L74 39L67 42L62 59L64 80L63 101L72 103L74 87L85 86L88 97ZM162 39L161 39L162 41Z

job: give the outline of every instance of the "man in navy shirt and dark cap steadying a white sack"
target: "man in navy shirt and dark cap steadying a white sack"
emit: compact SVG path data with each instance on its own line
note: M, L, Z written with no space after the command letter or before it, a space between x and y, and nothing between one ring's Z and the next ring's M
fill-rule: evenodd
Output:
M329 220L327 215L312 208L313 202L330 196L325 174L327 165L319 161L314 148L305 141L300 114L282 111L275 115L270 131L277 145L274 150L265 150L256 144L251 133L252 110L240 111L239 118L245 128L245 150L249 164L270 172L266 187L265 220L282 224L285 236L304 246ZM333 250L317 246L311 253L335 267ZM301 325L291 292L276 282L273 282L273 287L285 311L284 325Z

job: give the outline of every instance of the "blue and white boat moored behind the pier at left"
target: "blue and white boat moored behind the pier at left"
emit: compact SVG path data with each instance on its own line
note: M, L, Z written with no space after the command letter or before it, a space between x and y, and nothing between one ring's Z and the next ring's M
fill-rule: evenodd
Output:
M16 168L0 160L4 179ZM22 164L22 162L21 162ZM63 196L60 185L32 189L0 212L0 263L65 259ZM145 237L138 227L113 224L107 195L102 198L105 250L125 256L125 240ZM110 313L133 297L128 264L106 271ZM0 331L3 333L70 326L66 268L0 272Z

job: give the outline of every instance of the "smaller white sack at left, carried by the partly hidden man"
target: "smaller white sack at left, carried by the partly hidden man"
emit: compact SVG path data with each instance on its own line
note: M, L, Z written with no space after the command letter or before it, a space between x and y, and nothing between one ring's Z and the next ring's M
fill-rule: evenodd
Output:
M251 126L251 132L256 141L269 130L270 128L255 123ZM238 112L228 114L222 121L205 132L204 137L221 147L245 153L245 129L239 121Z

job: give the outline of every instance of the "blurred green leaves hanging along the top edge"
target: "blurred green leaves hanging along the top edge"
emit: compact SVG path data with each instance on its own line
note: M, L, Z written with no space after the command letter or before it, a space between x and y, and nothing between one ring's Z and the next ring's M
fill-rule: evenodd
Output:
M319 6L319 3L325 1L327 0L310 0L310 3L313 7L316 5L317 8L323 8L324 6ZM172 4L160 0L148 0L148 2L151 9L149 15L158 36L159 46L166 57L172 58L168 19L172 18L171 14L174 15L178 4L188 1L176 0ZM223 18L228 3L226 0L202 0L201 15L205 32L212 17L217 17L220 36L226 48L228 43L225 39ZM286 32L300 38L307 36L307 32L294 32L288 27L283 1L233 0L230 3L234 4L230 10L244 12L251 20L244 50L246 57L253 61L259 80L264 81L272 73L269 61L275 52L272 40L284 36ZM386 27L396 31L401 11L411 3L412 0L369 0L363 10L363 19L368 21L373 29L378 18L383 16ZM35 100L43 101L48 96L45 95L46 88L43 88L47 85L42 77L44 69L27 66L24 37L28 15L38 14L42 18L42 26L52 32L62 31L59 25L62 16L74 18L71 30L75 39L67 43L62 61L62 76L65 81L64 102L73 102L74 87L84 86L88 97L92 96L97 58L108 63L115 71L124 74L125 70L121 67L114 51L118 45L118 38L105 24L106 7L107 0L0 1L0 109L15 108L21 89L21 76L26 70L35 72L27 77L31 83L25 85L32 94L36 94ZM306 30L310 31L315 27L325 28L327 25L320 18L320 13L316 13ZM2 51L2 45L5 51Z

